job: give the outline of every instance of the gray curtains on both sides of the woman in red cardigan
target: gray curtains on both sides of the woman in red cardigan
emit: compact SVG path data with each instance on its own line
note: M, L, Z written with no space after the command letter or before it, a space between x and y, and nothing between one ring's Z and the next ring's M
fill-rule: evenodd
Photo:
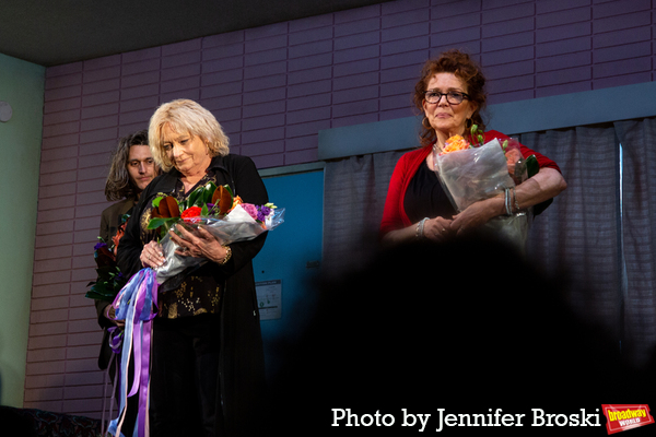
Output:
M555 161L567 181L531 223L529 258L562 280L578 315L617 340L633 364L645 364L656 345L656 120L532 132L519 141ZM326 164L325 272L358 269L377 248L387 186L402 153Z

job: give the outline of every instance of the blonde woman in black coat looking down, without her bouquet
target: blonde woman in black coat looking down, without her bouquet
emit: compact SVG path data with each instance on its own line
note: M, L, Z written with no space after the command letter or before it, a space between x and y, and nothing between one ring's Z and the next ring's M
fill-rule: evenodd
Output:
M197 187L227 184L245 202L265 204L268 194L253 161L230 153L214 116L198 103L178 99L151 118L150 147L164 174L141 194L118 250L119 267L133 274L165 260L147 229L152 200L178 201ZM178 226L171 234L179 253L210 262L166 281L157 296L151 368L151 434L236 435L255 423L265 368L253 258L266 233L224 245L209 233Z

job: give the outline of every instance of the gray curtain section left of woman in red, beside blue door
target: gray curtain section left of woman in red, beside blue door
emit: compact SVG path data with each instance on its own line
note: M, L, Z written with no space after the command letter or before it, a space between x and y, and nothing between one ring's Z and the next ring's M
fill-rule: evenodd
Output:
M326 163L321 268L325 274L358 270L377 249L387 187L403 153L374 153Z

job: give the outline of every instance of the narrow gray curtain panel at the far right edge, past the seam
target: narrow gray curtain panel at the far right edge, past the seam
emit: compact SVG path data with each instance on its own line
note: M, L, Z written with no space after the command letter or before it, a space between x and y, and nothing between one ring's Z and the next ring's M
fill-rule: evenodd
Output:
M622 144L624 351L637 365L656 346L656 119L614 123Z

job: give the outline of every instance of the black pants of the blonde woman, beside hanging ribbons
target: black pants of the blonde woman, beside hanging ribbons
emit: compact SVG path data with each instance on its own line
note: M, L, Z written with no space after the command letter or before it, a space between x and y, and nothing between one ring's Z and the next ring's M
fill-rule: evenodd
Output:
M215 436L219 316L153 322L151 436Z

